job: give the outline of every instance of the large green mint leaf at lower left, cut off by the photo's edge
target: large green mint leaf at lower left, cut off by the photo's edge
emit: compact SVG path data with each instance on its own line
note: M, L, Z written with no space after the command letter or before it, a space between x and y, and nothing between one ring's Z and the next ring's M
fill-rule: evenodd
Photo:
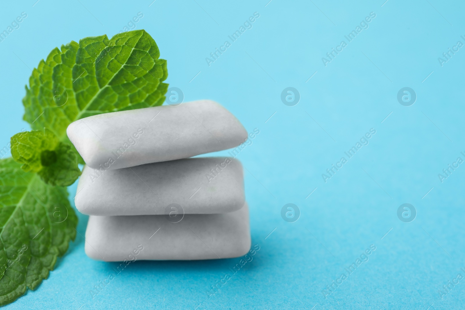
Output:
M0 305L35 289L76 236L66 188L0 160Z

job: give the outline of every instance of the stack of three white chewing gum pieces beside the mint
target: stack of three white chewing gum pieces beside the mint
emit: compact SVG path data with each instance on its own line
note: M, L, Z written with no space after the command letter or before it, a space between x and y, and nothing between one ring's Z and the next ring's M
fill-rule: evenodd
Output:
M192 156L236 147L247 132L218 103L199 100L90 116L67 135L86 165L74 199L90 215L86 254L123 261L240 257L249 251L242 165Z

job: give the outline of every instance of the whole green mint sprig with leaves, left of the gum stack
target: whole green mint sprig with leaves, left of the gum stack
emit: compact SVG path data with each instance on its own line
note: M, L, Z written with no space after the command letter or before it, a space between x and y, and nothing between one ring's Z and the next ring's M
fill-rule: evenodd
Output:
M76 235L65 187L84 161L66 136L88 116L160 106L166 60L145 30L71 41L34 68L23 99L32 128L0 160L0 305L35 289ZM14 160L13 160L14 159Z

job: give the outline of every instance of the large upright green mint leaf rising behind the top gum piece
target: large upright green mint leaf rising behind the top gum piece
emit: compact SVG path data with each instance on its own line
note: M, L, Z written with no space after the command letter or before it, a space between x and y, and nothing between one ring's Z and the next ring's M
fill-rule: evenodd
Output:
M66 127L106 112L160 106L168 84L166 60L145 30L72 41L41 60L29 78L24 120L70 143ZM72 146L73 148L73 146ZM74 148L73 148L74 150ZM81 160L81 159L80 159Z

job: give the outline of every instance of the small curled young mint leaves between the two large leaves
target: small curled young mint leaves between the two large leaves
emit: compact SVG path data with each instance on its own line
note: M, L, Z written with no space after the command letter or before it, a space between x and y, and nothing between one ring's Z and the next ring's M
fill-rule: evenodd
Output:
M81 174L77 153L46 128L15 134L11 137L11 154L23 164L22 170L37 172L49 185L72 185Z

